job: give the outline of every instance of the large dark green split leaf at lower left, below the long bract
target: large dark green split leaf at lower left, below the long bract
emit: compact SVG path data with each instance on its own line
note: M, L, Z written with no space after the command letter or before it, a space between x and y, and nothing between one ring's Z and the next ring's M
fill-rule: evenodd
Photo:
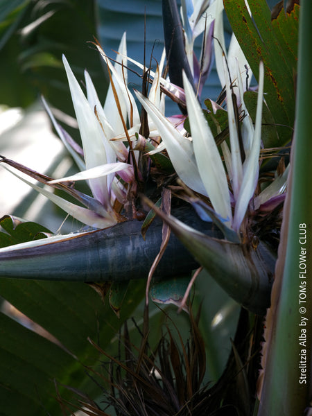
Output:
M0 314L1 415L58 414L53 380L92 392L83 364L94 365L98 354L87 337L104 348L131 315L143 295L144 283L130 286L118 319L108 302L85 284L0 280L0 293L17 309L57 338L64 349ZM71 354L69 354L69 352ZM69 397L69 392L60 392ZM15 408L19 408L19 412Z

